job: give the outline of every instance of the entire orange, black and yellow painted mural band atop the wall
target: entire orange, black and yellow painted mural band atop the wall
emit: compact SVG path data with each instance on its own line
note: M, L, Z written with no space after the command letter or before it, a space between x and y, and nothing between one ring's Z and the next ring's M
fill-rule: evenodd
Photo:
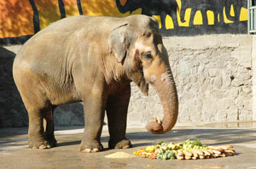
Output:
M246 33L247 0L0 0L0 44L23 43L72 15L147 14L166 36Z

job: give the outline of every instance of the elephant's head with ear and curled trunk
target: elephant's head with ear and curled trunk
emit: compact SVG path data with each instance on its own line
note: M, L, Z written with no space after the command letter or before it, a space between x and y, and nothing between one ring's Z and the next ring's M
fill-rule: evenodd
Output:
M148 122L148 132L168 132L177 121L177 89L157 21L145 15L132 15L124 21L110 33L110 50L123 66L125 75L145 95L148 95L150 84L160 97L163 120Z

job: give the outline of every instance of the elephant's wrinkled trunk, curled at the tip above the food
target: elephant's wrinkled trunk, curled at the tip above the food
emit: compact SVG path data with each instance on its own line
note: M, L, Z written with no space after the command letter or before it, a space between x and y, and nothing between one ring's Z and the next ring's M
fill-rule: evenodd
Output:
M177 89L173 81L172 72L166 71L159 76L153 83L153 87L157 91L164 110L164 118L159 123L156 121L148 122L146 129L154 134L163 134L169 132L177 121L178 100Z

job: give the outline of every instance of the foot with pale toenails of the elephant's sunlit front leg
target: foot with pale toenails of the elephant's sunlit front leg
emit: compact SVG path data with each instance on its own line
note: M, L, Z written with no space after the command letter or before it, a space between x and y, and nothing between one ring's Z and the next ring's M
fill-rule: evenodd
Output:
M79 151L82 153L96 153L102 149L102 144L97 141L82 142L79 146Z

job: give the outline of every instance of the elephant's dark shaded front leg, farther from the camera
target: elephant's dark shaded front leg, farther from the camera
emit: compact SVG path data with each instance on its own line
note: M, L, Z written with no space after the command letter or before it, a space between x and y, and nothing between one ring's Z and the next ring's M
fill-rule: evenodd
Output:
M130 84L119 93L108 98L107 115L110 139L109 149L127 149L131 142L125 138L128 104L131 96Z

